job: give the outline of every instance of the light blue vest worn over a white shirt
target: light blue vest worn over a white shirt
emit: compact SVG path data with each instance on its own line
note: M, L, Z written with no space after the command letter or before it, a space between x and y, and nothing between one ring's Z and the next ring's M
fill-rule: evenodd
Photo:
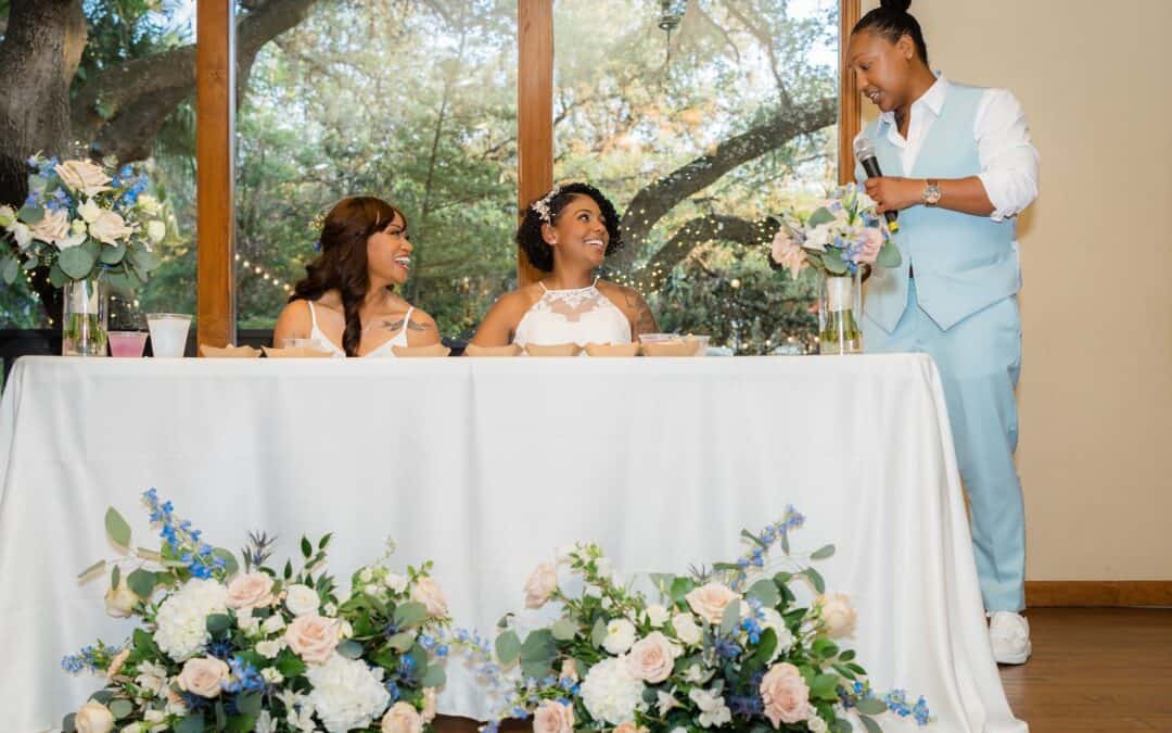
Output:
M915 164L905 172L900 150L887 140L888 123L875 120L865 135L888 176L965 178L981 172L973 128L984 89L948 83L940 117L932 123ZM861 171L861 168L858 169ZM859 183L865 179L860 177ZM942 330L1021 289L1015 219L994 222L948 209L917 205L899 212L895 244L904 263L878 269L866 290L866 313L888 333L907 306L908 267L919 305Z

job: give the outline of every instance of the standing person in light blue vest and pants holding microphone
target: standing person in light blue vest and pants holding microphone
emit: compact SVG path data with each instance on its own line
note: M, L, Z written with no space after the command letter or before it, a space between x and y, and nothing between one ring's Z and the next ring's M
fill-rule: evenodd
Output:
M1030 654L1026 516L1014 467L1021 371L1016 215L1037 197L1038 155L1004 89L934 74L909 0L884 0L851 33L847 69L880 109L860 135L881 177L857 169L879 211L899 212L904 263L867 285L870 352L927 352L945 385L989 636L997 661Z

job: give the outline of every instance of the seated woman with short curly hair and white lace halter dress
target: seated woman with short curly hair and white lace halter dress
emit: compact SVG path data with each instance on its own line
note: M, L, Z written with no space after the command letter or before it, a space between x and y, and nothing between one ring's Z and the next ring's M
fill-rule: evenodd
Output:
M655 332L642 296L594 276L622 246L619 215L594 186L554 186L533 202L517 229L517 244L548 274L497 300L472 344L629 344Z

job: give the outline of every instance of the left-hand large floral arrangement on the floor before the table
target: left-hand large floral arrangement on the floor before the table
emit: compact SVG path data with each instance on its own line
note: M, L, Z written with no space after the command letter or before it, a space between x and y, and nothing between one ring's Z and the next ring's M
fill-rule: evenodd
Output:
M381 731L422 733L436 712L448 647L444 595L430 563L396 573L394 547L353 576L349 597L325 571L331 536L301 539L301 563L278 572L274 539L251 535L244 571L207 544L155 489L143 495L161 528L158 551L135 549L113 508L105 527L122 550L82 573L110 571L107 612L141 619L122 645L98 642L66 657L104 687L62 722L82 733L177 731Z

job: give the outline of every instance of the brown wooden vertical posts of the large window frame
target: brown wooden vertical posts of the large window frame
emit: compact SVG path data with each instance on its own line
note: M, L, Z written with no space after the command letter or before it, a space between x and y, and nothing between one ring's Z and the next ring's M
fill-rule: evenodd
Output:
M860 128L846 43L860 0L839 0L838 178L854 178L850 154ZM236 12L234 0L200 0L196 47L196 196L199 292L197 341L236 342ZM517 0L518 211L553 185L553 0ZM520 285L543 276L517 251Z

